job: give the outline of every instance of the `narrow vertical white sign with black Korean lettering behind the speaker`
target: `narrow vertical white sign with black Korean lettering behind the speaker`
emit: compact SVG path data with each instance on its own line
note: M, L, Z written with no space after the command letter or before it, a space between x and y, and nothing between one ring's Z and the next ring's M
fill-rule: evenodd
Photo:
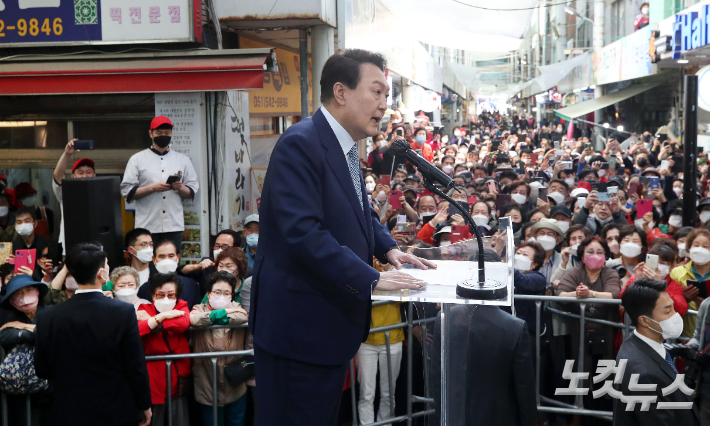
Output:
M223 228L241 231L244 219L252 213L251 137L249 133L249 94L242 90L227 92L225 107L225 188L226 219Z

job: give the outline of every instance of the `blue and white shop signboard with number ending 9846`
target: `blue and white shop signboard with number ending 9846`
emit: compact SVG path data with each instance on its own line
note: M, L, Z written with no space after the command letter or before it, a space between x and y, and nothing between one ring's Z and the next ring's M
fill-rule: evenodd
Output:
M199 0L0 0L0 46L191 42L201 14Z

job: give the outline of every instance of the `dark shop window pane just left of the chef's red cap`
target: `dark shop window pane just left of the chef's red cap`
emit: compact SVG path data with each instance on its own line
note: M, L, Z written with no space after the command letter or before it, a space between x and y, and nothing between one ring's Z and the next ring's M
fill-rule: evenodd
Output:
M95 149L145 149L152 143L148 129L150 120L75 121L74 137L93 140Z

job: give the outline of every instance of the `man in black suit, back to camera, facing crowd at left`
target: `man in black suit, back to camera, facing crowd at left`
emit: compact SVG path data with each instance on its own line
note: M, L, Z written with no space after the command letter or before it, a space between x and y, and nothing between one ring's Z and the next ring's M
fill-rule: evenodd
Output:
M150 383L133 305L104 296L108 259L79 244L66 265L79 289L44 310L35 329L37 376L54 383L52 425L145 426Z

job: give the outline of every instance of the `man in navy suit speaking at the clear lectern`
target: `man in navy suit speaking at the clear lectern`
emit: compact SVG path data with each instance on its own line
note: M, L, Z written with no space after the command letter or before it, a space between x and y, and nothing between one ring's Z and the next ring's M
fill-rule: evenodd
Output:
M377 134L384 69L382 56L363 50L330 57L323 107L291 126L271 155L249 318L260 426L335 424L348 362L369 332L372 290L424 285L377 272L373 256L434 267L397 248L366 196L355 141Z

